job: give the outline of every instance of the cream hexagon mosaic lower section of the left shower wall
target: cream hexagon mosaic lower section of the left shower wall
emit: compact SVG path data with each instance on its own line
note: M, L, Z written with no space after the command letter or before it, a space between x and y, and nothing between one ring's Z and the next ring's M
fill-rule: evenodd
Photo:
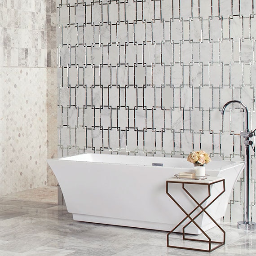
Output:
M0 68L0 194L47 185L46 69Z

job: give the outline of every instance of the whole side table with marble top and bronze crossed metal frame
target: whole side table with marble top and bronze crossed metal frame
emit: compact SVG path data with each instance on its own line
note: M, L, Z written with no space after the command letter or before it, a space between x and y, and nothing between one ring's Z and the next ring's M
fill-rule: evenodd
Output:
M172 197L172 193L171 193L171 184L174 183L178 183L181 185L182 190L185 191L185 194L187 194L189 196L189 198L191 200L194 201L195 203L195 207L192 211L190 212L186 212L184 207L181 206L180 203L178 203L176 201L176 199L174 199ZM218 191L218 194L214 195L213 198L210 199L211 197L211 187L213 184L216 183L222 183L221 184L221 190ZM201 202L198 202L197 199L194 198L194 196L190 193L190 191L188 191L186 189L187 184L191 184L191 185L202 185L202 186L207 186L207 191L208 193L203 196L203 200L201 200ZM221 228L221 226L212 218L212 216L210 216L210 214L206 211L207 208L213 203L215 202L220 196L221 194L223 194L225 192L225 180L224 178L219 178L219 177L208 177L205 180L190 180L190 179L178 179L178 178L171 178L168 179L166 181L166 193L168 194L168 196L172 199L172 201L174 203L177 204L177 206L181 209L182 212L185 213L185 218L180 221L180 223L178 223L168 234L167 234L167 246L168 247L172 247L172 248L179 248L179 249L187 249L187 250L194 250L194 251L201 251L201 252L212 252L213 250L217 249L218 247L221 247L222 245L225 244L225 231ZM207 199L210 200L210 202L207 202ZM205 203L205 205L203 206L203 203ZM195 215L193 216L193 213L199 211L198 213L195 213ZM206 214L209 219L215 224L216 227L218 227L218 229L222 232L223 234L223 238L221 241L212 241L212 239L209 237L209 235L198 225L198 223L196 222L196 218L198 218L201 214ZM203 243L208 243L208 249L200 249L200 248L195 248L195 247L181 247L181 246L175 246L175 245L171 245L170 244L170 235L175 232L175 230L185 221L188 220L188 223L185 224L185 226L182 228L182 238L183 240L188 240L188 241L196 241L196 242L203 242ZM202 234L205 236L205 240L204 239L194 239L194 238L186 238L185 235L185 228L190 225L191 223L193 223L201 232Z

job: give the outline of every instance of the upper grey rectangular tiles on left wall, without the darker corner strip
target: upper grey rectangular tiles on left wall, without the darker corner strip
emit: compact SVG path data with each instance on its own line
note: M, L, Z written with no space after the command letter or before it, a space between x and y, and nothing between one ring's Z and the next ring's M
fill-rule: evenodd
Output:
M0 3L2 66L46 66L45 1Z

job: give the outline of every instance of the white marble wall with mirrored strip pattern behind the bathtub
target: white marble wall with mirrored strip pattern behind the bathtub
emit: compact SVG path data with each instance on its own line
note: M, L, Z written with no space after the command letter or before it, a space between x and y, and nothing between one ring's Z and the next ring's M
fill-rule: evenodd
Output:
M247 0L58 0L59 155L243 160L243 109L221 109L245 102L256 128L254 11ZM243 219L243 185L226 219Z

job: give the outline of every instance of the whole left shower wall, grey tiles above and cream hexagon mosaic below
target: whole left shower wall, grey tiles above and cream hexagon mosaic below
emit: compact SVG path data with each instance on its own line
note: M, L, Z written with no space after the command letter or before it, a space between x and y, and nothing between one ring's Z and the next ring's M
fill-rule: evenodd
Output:
M0 1L0 194L56 185L46 163L53 149L47 140L51 132L57 136L57 107L51 105L57 106L57 72L50 58L56 55L55 4Z

